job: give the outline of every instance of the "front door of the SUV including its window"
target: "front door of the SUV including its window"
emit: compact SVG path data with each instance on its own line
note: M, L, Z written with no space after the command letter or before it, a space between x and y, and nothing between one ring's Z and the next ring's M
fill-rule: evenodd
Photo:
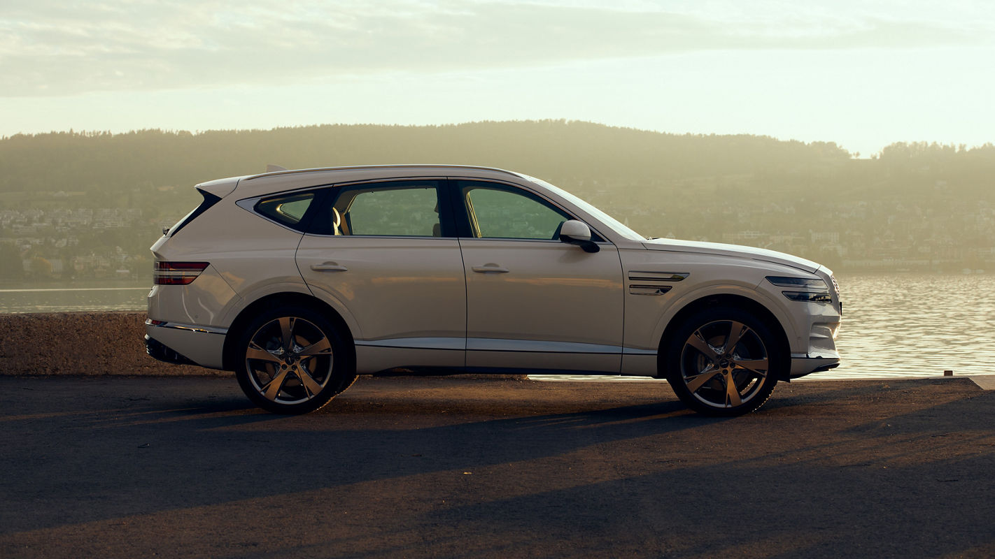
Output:
M573 217L523 189L452 185L471 233L460 238L467 366L618 373L624 295L616 247L598 239L600 251L589 253L561 242L559 225Z

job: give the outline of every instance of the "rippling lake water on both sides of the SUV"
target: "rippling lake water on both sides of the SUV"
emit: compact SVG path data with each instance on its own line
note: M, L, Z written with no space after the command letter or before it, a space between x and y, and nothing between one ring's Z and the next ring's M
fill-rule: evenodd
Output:
M839 368L808 378L995 373L995 276L839 276ZM105 285L105 284L103 284ZM149 286L0 288L0 313L141 311Z

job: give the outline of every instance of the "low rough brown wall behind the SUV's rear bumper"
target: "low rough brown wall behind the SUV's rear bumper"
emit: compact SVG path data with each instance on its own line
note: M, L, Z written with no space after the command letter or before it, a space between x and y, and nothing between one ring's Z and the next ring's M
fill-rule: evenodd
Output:
M144 312L0 315L0 374L209 374L145 354Z

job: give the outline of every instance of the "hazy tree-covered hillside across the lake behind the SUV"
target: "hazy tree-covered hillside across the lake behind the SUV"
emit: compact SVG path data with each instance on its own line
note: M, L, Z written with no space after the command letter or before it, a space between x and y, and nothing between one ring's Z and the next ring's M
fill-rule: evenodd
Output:
M765 246L843 269L995 270L991 144L896 143L856 159L832 142L564 120L0 138L0 241L25 261L140 261L156 231L198 202L189 187L268 163L499 167L557 184L647 235Z

